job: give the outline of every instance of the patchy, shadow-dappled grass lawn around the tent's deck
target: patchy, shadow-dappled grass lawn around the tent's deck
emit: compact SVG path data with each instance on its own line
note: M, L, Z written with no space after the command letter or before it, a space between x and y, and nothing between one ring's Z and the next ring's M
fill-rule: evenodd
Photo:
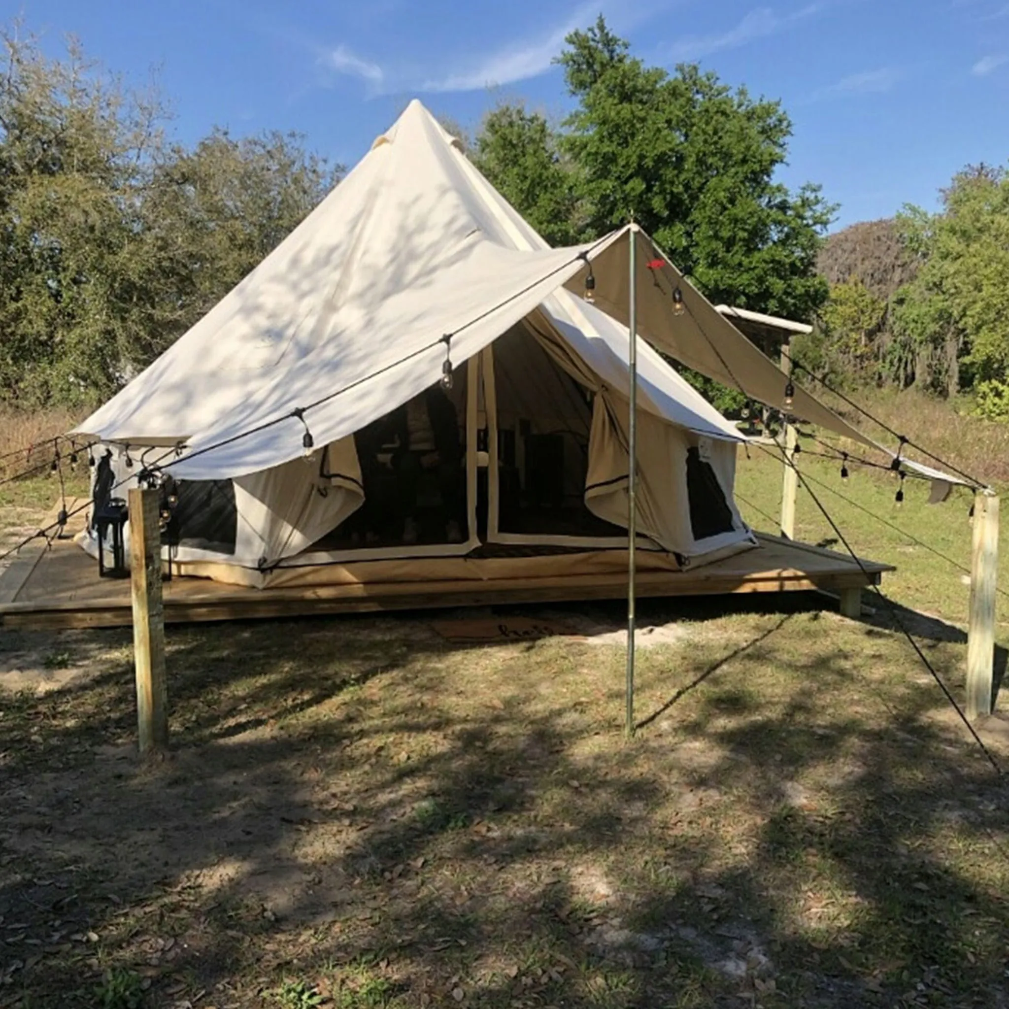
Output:
M908 481L898 512L801 462L968 562L967 497ZM17 486L37 522L51 482ZM962 695L961 572L822 499ZM798 533L833 536L801 491ZM149 764L127 632L0 633L0 684L32 684L0 688L0 1006L1009 1006L1009 785L885 609L641 609L631 744L619 645L404 614L170 629ZM1009 723L981 732L1009 766Z

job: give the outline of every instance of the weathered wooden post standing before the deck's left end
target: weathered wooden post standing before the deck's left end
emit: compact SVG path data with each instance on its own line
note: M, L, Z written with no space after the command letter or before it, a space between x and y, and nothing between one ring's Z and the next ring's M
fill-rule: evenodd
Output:
M141 755L169 746L169 691L164 678L164 609L158 491L129 491L130 579L136 724Z

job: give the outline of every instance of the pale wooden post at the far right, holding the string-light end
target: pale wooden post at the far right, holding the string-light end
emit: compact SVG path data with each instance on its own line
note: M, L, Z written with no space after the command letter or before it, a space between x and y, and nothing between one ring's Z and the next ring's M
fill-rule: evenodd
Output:
M999 562L999 499L990 490L974 496L971 616L967 632L967 716L992 712L995 665L995 587Z

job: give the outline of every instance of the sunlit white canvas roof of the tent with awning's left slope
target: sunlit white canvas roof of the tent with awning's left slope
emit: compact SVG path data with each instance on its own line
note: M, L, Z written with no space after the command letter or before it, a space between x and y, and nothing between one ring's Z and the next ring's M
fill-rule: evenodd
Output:
M611 387L628 331L561 288L625 235L551 249L417 101L302 224L79 433L185 441L180 476L240 476L359 430L538 306ZM739 432L650 348L643 407L716 438ZM259 429L255 430L254 429ZM254 433L250 434L250 431ZM225 445L208 450L210 446Z

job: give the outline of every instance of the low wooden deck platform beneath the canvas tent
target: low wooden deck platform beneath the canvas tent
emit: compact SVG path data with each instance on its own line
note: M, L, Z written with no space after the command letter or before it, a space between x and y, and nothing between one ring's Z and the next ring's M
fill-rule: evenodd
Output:
M761 535L761 548L693 571L642 572L639 596L722 595L822 589L843 600L851 589L878 583L888 564L863 561L775 536ZM514 571L514 566L512 568ZM164 583L164 620L201 621L302 616L368 610L615 599L627 594L627 573L500 578L397 584L241 588L205 578ZM857 603L857 596L856 603ZM0 627L101 628L132 622L128 579L98 577L96 562L69 540L25 547L0 574Z

